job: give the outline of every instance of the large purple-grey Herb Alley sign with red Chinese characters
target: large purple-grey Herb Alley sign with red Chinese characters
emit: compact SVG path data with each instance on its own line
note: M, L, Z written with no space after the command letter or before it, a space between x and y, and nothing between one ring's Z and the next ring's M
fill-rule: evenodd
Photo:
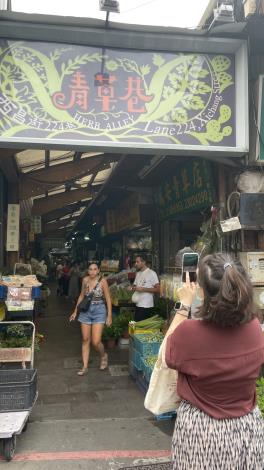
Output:
M0 48L2 143L245 148L235 54L7 40Z

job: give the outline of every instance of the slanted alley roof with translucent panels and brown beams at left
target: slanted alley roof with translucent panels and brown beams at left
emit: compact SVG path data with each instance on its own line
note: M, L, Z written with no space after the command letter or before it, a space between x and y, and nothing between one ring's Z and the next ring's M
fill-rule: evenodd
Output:
M0 157L9 182L19 185L21 217L41 215L43 231L60 237L77 222L118 160L102 152L40 149L13 155L2 150Z

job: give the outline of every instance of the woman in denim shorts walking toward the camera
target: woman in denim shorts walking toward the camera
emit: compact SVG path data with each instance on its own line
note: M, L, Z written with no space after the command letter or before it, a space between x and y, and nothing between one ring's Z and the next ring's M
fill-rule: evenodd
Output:
M90 263L88 276L83 278L81 294L74 312L70 316L70 321L76 319L78 306L81 305L81 302L85 302L86 296L89 296L89 305L87 305L87 310L82 310L78 316L82 331L83 360L83 367L78 372L80 376L85 375L88 371L91 342L101 357L100 370L105 370L108 367L108 355L102 343L102 333L105 324L107 326L112 324L112 302L107 281L100 277L100 270L96 263Z

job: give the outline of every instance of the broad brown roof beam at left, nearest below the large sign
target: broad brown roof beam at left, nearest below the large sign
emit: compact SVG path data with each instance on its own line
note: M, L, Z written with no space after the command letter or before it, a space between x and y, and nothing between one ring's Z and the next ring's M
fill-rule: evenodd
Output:
M108 164L110 161L114 160L109 159L108 156L100 155L97 157L84 158L80 161L52 165L43 170L21 174L20 199L29 199L34 196L39 196L61 184L72 183L92 173L99 164Z

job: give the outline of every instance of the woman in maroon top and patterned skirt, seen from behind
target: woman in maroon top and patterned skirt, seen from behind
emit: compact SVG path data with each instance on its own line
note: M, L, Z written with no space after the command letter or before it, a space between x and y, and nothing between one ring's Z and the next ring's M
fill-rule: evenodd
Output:
M256 379L264 337L242 265L215 254L199 263L200 321L183 321L168 336L166 363L179 373L182 401L172 440L174 470L263 470L264 421ZM179 289L176 312L188 317L197 286Z

